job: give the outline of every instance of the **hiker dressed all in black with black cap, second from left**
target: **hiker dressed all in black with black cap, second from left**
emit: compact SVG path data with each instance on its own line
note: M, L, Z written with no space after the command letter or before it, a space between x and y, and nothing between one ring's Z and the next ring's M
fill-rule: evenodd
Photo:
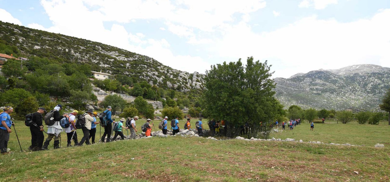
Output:
M45 108L38 108L35 113L32 113L32 121L33 125L30 126L31 133L31 146L28 147L28 150L38 151L42 150L43 145L43 124L42 124L42 114L46 113ZM39 127L39 128L38 128Z

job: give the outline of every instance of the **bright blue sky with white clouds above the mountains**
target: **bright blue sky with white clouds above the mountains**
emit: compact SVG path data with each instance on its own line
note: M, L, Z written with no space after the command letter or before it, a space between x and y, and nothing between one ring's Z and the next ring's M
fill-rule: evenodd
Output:
M390 0L0 0L0 20L190 73L250 56L268 60L273 78L390 67Z

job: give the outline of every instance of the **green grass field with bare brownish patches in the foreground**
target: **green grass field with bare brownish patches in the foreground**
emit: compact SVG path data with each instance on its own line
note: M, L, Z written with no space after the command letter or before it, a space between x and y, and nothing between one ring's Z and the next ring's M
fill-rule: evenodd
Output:
M156 129L159 121L154 121ZM137 127L144 120L137 122ZM195 123L195 122L194 122ZM182 121L180 124L184 124ZM386 123L387 124L387 123ZM23 150L30 132L16 129ZM1 181L389 181L390 126L303 123L275 138L350 143L366 147L279 141L214 141L206 138L149 138L20 152L14 130L0 155ZM126 133L126 131L125 131ZM97 130L99 136L99 129ZM46 137L46 136L45 136ZM81 139L79 134L79 140ZM49 148L53 148L53 141ZM385 148L374 148L375 143ZM134 158L134 160L131 160ZM355 174L358 171L359 174Z

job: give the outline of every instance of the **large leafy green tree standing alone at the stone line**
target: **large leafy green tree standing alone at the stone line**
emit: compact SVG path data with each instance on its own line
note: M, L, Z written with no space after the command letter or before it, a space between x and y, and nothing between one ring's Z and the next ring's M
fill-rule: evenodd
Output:
M239 125L248 122L248 137L268 137L270 122L281 112L275 99L275 83L271 79L270 65L248 57L246 66L230 62L211 66L206 71L205 112L209 117L227 121L227 136L239 134Z

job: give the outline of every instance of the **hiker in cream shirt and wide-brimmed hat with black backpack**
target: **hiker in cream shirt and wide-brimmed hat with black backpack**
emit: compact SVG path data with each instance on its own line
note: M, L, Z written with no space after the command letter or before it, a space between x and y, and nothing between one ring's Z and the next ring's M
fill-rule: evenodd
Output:
M85 114L82 116L78 116L76 120L76 128L80 128L83 130L83 138L81 139L80 143L78 143L78 146L83 146L83 143L90 145L89 143L89 131L91 130L91 125L94 119L92 118L93 115L92 110L88 110Z

